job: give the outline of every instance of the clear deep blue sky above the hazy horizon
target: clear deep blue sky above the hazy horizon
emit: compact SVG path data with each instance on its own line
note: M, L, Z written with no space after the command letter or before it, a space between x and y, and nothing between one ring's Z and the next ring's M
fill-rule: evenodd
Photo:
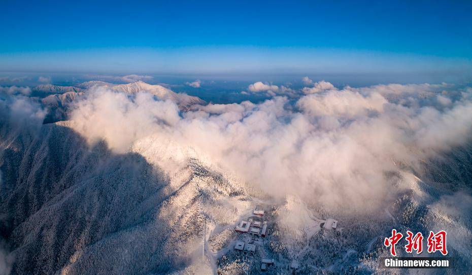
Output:
M2 2L0 71L462 74L472 2Z

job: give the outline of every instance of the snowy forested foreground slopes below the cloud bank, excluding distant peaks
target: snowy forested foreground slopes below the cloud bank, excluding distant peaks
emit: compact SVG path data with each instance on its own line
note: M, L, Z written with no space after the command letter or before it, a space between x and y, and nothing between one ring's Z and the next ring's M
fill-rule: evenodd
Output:
M451 232L455 271L472 264L470 217L435 206L440 194L452 193L441 182L470 190L472 147L428 162L429 178L412 183L418 191L365 217L296 200L264 200L218 167L193 158L191 149L153 136L116 154L105 143L89 147L72 121L43 125L37 133L10 127L0 123L0 232L4 249L15 255L13 274L257 274L260 257L276 259L269 274L286 272L292 260L300 263L300 274L372 273L382 271L377 269L378 257L387 255L382 237L391 228L434 226ZM170 162L184 164L168 173L161 165ZM232 249L233 226L261 202L274 203L267 213L270 227L256 256L247 257ZM335 217L339 230L319 228L319 217ZM205 231L209 245L201 261Z

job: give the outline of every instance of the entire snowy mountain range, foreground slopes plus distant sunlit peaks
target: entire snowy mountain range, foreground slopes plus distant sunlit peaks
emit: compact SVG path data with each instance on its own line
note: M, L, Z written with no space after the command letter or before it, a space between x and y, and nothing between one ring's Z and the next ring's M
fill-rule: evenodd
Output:
M105 139L90 142L70 112L101 90L129 97L147 92L159 102L175 103L183 117L189 110L206 110L212 127L223 118L235 125L241 120L234 115L241 106L207 105L141 81L37 86L27 99L30 105L20 96L11 106L21 102L23 111L46 110L39 125L21 124L13 107L2 105L7 100L0 101L0 108L12 114L0 118L0 273L389 274L395 270L381 269L379 259L389 256L383 239L392 228L445 229L453 269L428 271L467 273L472 268L470 143L421 159L420 166L393 160L398 170L382 175L394 194L385 205L345 211L295 195L273 196L269 187L252 184L175 136L163 135L169 124L136 137L124 152ZM223 108L229 108L226 116L214 119ZM254 144L246 146L257 145L254 136ZM334 157L341 161L342 156ZM235 232L235 225L256 208L265 211L267 236ZM338 228L324 226L333 219ZM234 250L237 241L254 244L255 253ZM276 264L262 272L262 258ZM294 262L296 271L290 267Z

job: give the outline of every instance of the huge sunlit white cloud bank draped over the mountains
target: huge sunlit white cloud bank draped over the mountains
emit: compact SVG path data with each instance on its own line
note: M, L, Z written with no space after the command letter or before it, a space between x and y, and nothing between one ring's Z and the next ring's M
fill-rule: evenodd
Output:
M256 82L252 90L272 86ZM180 149L172 149L172 158L182 165L198 157L269 195L294 195L344 211L374 210L391 198L392 188L409 181L386 175L470 142L472 90L443 95L451 99L444 108L435 86L314 87L319 91L299 98L298 109L276 96L260 104L193 106L181 115L171 101L103 89L81 101L72 119L87 140L105 139L112 150L161 152L169 149L159 146L173 144ZM390 89L396 90L391 100L383 95ZM432 93L431 100L424 92ZM167 169L170 160L149 161Z

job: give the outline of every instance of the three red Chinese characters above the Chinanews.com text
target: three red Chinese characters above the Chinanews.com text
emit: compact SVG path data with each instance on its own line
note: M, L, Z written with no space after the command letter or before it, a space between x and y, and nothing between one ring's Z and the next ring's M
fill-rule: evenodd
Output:
M388 238L385 238L384 245L390 248L390 254L396 256L395 245L403 237L403 234L397 232L396 229L392 229L392 235ZM421 254L423 252L423 234L418 232L414 234L413 232L407 230L407 236L405 237L407 245L405 245L405 251L407 253L413 253L416 251L416 254ZM429 231L429 236L427 239L428 253L434 253L436 251L441 252L444 256L448 254L447 245L446 245L446 231L441 230L434 234L433 231Z

